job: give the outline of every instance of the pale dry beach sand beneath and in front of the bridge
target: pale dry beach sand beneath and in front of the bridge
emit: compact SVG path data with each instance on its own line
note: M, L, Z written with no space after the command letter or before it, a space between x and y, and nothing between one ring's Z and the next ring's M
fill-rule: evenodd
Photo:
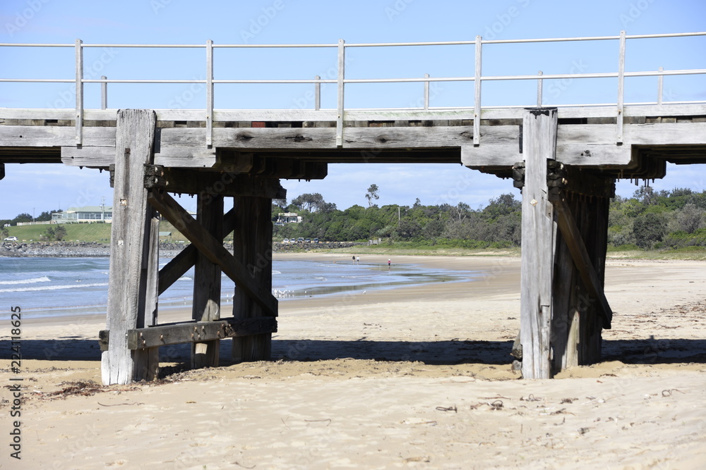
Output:
M519 259L401 263L489 274L280 302L273 361L230 364L223 341L222 367L182 371L188 350L164 348L164 379L127 386L87 383L100 316L23 319L22 460L3 361L2 468L706 468L705 262L609 261L606 361L551 381L510 368Z

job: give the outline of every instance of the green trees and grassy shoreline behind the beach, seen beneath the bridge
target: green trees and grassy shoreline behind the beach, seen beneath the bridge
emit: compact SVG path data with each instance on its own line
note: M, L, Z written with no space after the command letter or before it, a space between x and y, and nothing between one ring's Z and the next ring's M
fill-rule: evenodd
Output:
M321 194L301 194L289 204L277 200L273 221L280 212L297 212L301 223L275 224L274 240L318 238L321 241L366 241L380 238L400 247L506 248L520 246L521 206L513 194L491 199L483 209L465 203L424 206L419 199L412 206L373 204L378 187L366 194L368 207L352 206L343 211L325 202ZM51 211L42 213L51 217ZM11 221L28 218L20 214ZM30 218L31 220L31 218ZM172 232L172 240L185 240L171 225L160 230ZM64 233L64 227L66 233ZM53 229L53 230L52 230ZM57 233L58 231L58 233ZM0 230L3 237L20 240L107 241L109 224L66 224L11 226ZM53 233L52 233L53 232ZM632 197L616 197L611 202L609 245L616 249L706 249L706 191L677 188L656 192L642 187Z

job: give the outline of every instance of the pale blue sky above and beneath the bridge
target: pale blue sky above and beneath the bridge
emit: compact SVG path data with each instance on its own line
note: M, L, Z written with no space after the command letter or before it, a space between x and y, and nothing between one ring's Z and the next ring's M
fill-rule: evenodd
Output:
M594 1L424 1L356 0L185 1L124 0L120 2L3 0L0 42L91 44L335 44L425 42L535 37L584 37L706 30L702 0ZM500 49L503 48L503 49ZM706 38L651 39L628 42L626 70L706 68ZM402 78L472 75L470 46L349 49L348 78ZM484 47L484 75L613 72L618 43L495 45ZM205 78L203 49L86 49L85 76L100 78ZM0 47L3 78L73 78L72 49ZM215 78L332 77L335 49L216 49ZM487 84L487 85L486 85ZM313 107L313 85L217 85L217 109ZM616 81L597 79L547 83L545 103L604 103L616 100ZM347 107L419 106L421 84L349 85ZM100 107L97 85L86 85L85 105ZM534 82L486 82L484 105L532 105ZM706 77L667 77L664 99L705 100ZM656 78L626 80L626 101L657 99ZM335 106L333 85L323 87L323 107ZM201 108L205 89L199 85L111 85L109 108ZM68 108L70 84L18 85L0 83L0 107ZM469 83L440 83L431 90L432 106L472 106ZM458 165L330 165L321 181L282 180L289 199L320 192L340 209L366 205L364 194L375 183L378 204L457 204L473 208L505 192L520 194L509 180ZM670 166L656 189L706 189L704 166ZM618 183L618 194L635 186ZM0 218L20 212L39 215L48 209L112 204L106 173L64 166L7 165L0 181ZM195 199L182 199L193 209Z

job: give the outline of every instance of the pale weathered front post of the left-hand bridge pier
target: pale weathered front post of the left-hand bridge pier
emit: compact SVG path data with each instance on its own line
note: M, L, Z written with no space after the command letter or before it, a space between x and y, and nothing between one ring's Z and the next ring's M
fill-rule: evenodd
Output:
M150 254L148 242L152 209L143 184L143 167L152 163L156 121L154 111L118 112L107 305L107 329L113 334L109 349L101 357L104 385L126 384L157 373L156 369L143 368L155 367L152 352L131 352L125 337L127 330L145 326L145 310L152 308L152 301L147 302L148 283L150 279L156 283L150 273L155 254ZM88 130L84 139L88 139ZM150 357L144 358L144 354Z

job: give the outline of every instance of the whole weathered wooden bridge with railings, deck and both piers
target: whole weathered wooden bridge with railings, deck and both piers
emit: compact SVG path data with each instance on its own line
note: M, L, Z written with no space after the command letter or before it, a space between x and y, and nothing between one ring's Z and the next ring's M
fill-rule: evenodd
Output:
M554 372L599 360L601 332L610 328L604 295L609 199L616 178L662 178L666 162L706 163L706 103L662 102L664 75L698 70L626 72L628 39L681 35L526 39L407 44L319 44L220 47L335 47L336 80L215 80L213 42L206 50L205 80L100 80L83 78L83 49L100 45L52 44L76 49L75 79L5 79L0 82L72 82L75 109L0 109L0 178L5 163L64 163L110 171L114 186L107 329L100 333L104 383L150 379L159 368L159 347L189 342L192 366L218 364L219 342L233 338L238 361L268 359L276 331L272 287L272 199L285 197L282 178L325 178L328 163L462 163L513 178L522 187L521 325L522 375ZM484 76L484 44L606 40L619 44L618 71L567 75ZM475 48L475 75L452 78L345 78L347 47L468 44ZM0 44L47 47L47 44ZM114 44L112 47L156 47ZM164 47L177 47L164 45ZM654 103L623 102L626 77L655 76ZM543 106L542 82L563 78L615 78L616 103ZM481 83L536 80L537 105L481 106ZM474 82L474 106L429 106L434 81ZM204 109L85 109L83 85L203 82ZM337 109L214 109L215 83L308 82L337 85ZM421 82L419 109L360 110L345 107L345 85L359 82ZM103 100L104 108L105 98ZM461 168L460 171L467 171ZM193 218L169 195L197 195ZM224 198L233 207L224 207ZM226 211L226 209L228 209ZM157 213L191 240L161 270ZM234 253L222 245L234 233ZM157 321L158 296L196 266L193 318ZM221 273L236 284L232 316L221 311ZM509 353L509 352L508 352Z

